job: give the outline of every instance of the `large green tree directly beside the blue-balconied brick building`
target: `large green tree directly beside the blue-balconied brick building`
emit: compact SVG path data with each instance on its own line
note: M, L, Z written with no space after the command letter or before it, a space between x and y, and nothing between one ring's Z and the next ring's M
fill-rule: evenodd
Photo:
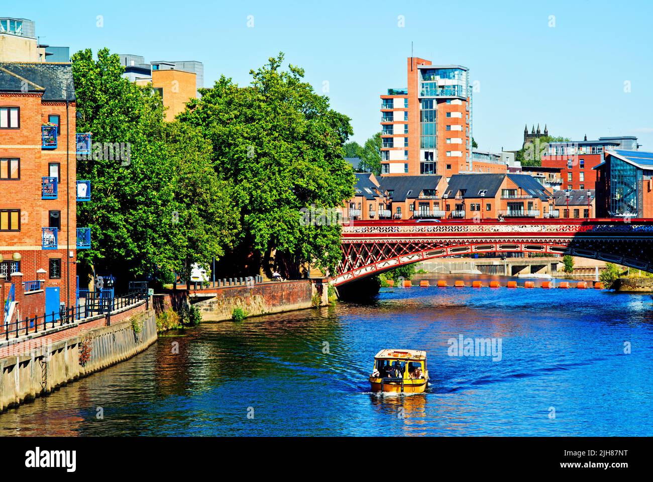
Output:
M77 130L91 133L94 148L77 161L78 179L90 180L92 193L91 201L78 204L78 225L92 233L91 249L78 251L82 271L94 267L122 282L183 271L189 250L197 248L193 238L206 240L205 233L214 242L197 248L193 261L219 257L218 246L229 244L236 231L225 202L218 203L224 210L217 217L189 212L193 197L214 201L221 195L207 197L202 185L224 187L212 169L210 145L189 126L165 122L161 97L123 78L119 57L108 49L99 50L97 60L91 50L77 52L72 72ZM106 155L98 143L119 143L126 155ZM185 180L180 173L193 177ZM209 221L215 224L202 224Z

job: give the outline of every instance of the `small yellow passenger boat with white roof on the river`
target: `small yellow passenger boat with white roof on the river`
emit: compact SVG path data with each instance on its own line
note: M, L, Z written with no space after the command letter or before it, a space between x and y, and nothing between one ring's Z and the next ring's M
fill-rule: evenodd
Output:
M373 392L423 393L427 382L426 351L385 349L374 357Z

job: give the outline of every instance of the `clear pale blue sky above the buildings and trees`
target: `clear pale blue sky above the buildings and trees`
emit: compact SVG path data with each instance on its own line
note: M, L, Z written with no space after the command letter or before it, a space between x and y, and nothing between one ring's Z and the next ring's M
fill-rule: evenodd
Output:
M35 20L42 42L71 52L107 46L146 61L202 61L205 86L221 74L246 84L249 69L285 52L317 91L328 81L333 108L351 118L361 144L380 130L379 95L406 86L413 41L415 56L464 65L479 81L473 136L481 149L520 148L524 123L530 130L539 122L572 140L636 135L653 150L650 1L60 0L52 8L3 7L2 15ZM400 15L405 27L398 27Z

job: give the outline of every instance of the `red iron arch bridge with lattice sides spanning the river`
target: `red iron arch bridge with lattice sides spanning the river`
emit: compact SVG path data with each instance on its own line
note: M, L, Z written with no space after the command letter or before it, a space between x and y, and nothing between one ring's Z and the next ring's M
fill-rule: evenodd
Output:
M653 272L653 219L353 221L342 227L333 283L432 258L490 252L568 254Z

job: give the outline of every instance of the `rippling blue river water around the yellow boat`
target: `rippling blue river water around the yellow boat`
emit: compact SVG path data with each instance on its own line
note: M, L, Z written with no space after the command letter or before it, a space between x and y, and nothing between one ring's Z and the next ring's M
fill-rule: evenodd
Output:
M495 356L452 356L461 336ZM428 353L426 393L370 393L383 348ZM413 287L168 333L0 435L650 436L652 413L650 295Z

